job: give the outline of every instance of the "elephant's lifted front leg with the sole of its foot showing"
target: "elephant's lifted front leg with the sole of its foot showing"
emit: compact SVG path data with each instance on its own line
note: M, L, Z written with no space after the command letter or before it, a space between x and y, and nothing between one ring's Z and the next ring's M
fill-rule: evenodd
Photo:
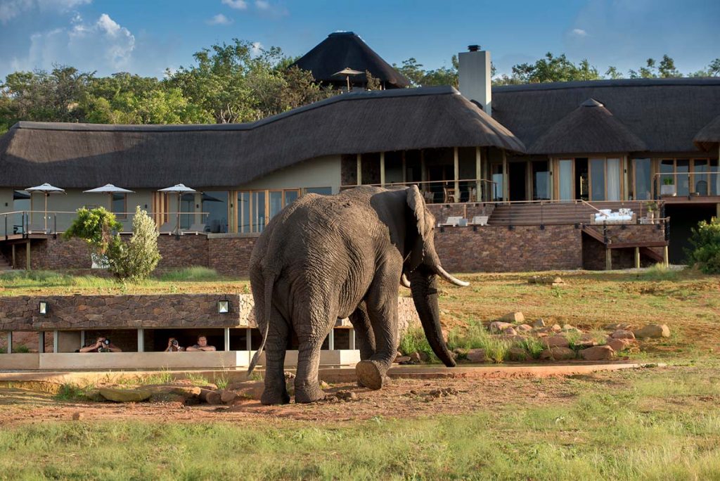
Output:
M358 382L370 389L380 389L387 369L397 354L397 291L402 259L392 259L379 266L366 296L367 313L375 338L375 354L356 364Z

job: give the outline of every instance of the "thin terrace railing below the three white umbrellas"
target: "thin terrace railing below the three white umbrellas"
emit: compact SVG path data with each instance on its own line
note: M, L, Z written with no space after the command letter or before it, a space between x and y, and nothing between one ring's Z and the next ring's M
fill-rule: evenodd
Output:
M132 232L132 220L135 212L113 212L117 221L123 225L121 233ZM44 210L18 210L0 212L0 240L11 237L27 237L32 234L57 235L63 233L77 212ZM213 230L227 232L228 225L215 225L208 222L209 212L148 212L155 220L161 234L183 235L188 233L210 233Z

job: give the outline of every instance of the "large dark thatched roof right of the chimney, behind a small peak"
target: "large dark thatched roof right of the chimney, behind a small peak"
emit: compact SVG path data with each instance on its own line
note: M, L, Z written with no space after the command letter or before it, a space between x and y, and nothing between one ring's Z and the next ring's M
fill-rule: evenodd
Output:
M654 78L502 86L492 117L533 145L585 99L597 99L652 152L696 150L693 138L720 114L720 78Z

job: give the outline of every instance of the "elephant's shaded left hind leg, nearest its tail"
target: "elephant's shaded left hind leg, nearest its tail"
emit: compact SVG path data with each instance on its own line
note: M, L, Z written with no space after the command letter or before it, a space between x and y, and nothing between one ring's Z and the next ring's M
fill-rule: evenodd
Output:
M260 399L264 405L290 402L285 385L285 349L289 331L287 321L273 308L265 345L265 390Z

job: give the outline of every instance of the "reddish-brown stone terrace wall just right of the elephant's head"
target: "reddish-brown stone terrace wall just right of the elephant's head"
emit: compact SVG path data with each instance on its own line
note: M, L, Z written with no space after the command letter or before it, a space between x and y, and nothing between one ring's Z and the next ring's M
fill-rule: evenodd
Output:
M435 248L451 272L513 272L580 269L580 229L572 225L485 225L436 230ZM604 254L603 254L604 255Z

